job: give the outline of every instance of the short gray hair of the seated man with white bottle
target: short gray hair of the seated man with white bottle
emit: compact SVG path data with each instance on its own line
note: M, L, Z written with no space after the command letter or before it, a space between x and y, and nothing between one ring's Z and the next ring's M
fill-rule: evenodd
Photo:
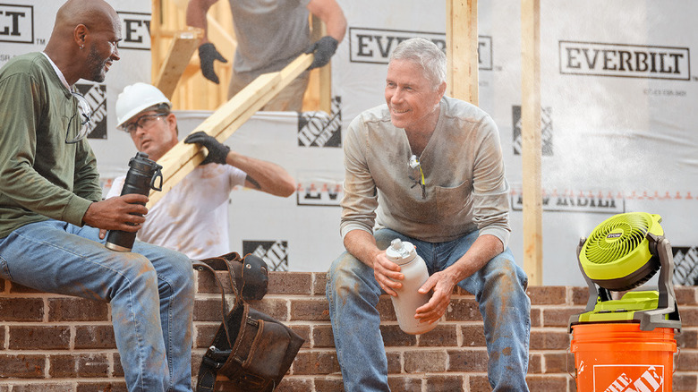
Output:
M420 64L424 76L431 81L434 89L446 81L446 55L436 44L424 38L410 38L400 42L390 55L393 60L409 60Z

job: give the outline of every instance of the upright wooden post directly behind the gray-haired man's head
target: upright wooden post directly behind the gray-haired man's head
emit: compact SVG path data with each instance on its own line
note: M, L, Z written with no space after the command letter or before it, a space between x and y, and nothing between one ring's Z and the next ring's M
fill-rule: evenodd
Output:
M446 1L447 95L478 105L478 2Z

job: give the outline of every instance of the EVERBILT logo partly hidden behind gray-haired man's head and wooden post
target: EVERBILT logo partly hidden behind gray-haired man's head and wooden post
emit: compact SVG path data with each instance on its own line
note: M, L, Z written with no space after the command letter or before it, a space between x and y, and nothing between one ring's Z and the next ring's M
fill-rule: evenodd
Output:
M395 47L409 38L425 38L446 51L446 34L425 31L349 28L349 60L352 63L387 64ZM492 69L492 38L478 37L478 68Z

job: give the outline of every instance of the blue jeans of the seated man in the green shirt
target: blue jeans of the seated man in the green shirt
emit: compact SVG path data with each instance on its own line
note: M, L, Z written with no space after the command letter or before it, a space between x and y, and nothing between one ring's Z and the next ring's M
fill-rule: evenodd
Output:
M111 303L131 392L192 391L192 260L136 242L110 251L94 227L47 220L0 239L0 277Z

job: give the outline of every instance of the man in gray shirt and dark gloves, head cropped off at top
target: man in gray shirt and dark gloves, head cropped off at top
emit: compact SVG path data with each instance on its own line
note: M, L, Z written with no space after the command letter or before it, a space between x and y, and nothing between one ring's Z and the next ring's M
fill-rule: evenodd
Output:
M209 42L206 13L218 0L190 0L187 24L204 30L199 47L201 72L206 79L218 83L213 70L215 60L226 63ZM313 52L315 60L309 69L328 64L336 47L345 37L346 19L336 0L229 0L233 13L237 49L228 98L254 81L260 74L277 72L302 53ZM328 35L311 44L309 13L319 17L328 27ZM301 111L302 98L308 86L308 72L282 89L262 110Z

